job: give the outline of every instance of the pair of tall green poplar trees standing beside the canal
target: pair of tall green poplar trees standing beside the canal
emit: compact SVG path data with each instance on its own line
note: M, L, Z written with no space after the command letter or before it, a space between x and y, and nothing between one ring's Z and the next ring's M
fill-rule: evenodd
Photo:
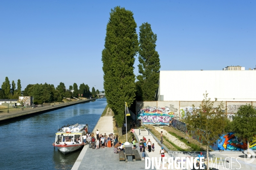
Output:
M157 35L149 23L143 23L138 40L136 28L132 11L119 6L111 9L105 48L102 50L102 70L105 96L118 127L122 127L125 120L125 102L129 108L135 108L136 100L154 100L158 88L160 59L156 51ZM134 61L137 54L140 64L136 77Z

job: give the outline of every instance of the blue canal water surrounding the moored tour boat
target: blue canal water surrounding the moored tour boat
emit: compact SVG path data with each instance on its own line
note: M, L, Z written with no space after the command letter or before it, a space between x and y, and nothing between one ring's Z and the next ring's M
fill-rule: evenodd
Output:
M71 170L81 150L64 155L52 146L58 127L88 124L92 131L105 98L0 125L1 170Z

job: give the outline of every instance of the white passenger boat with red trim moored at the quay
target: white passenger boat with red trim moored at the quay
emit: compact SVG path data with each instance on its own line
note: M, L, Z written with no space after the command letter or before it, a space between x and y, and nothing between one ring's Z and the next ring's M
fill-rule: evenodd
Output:
M67 125L58 129L55 142L52 144L62 153L67 154L84 146L82 136L87 133L88 125Z

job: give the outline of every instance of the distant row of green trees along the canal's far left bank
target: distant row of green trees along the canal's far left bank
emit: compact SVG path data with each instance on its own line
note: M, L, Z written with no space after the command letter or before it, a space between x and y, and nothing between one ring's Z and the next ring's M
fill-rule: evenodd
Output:
M17 89L15 82L10 81L8 77L6 77L5 81L2 84L2 90L0 91L0 99L18 99L21 96L21 85L20 79L17 81ZM99 94L99 90L95 91L95 88L92 88L90 91L90 87L82 83L79 88L76 83L69 86L69 90L66 90L66 86L63 82L55 88L54 85L50 85L47 83L44 84L35 84L35 85L27 85L23 91L23 96L33 96L34 102L41 104L42 102L62 102L63 98L73 98L73 97L85 97L89 98L96 97L96 94ZM73 90L73 93L71 92Z

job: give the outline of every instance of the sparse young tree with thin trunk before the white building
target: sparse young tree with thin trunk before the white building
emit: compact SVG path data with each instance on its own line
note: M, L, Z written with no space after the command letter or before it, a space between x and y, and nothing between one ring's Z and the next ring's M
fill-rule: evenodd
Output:
M198 108L192 105L192 112L186 112L185 122L190 133L195 133L207 146L207 160L209 158L209 146L215 143L224 133L226 116L223 115L223 103L214 107L208 94L204 94L202 104Z

